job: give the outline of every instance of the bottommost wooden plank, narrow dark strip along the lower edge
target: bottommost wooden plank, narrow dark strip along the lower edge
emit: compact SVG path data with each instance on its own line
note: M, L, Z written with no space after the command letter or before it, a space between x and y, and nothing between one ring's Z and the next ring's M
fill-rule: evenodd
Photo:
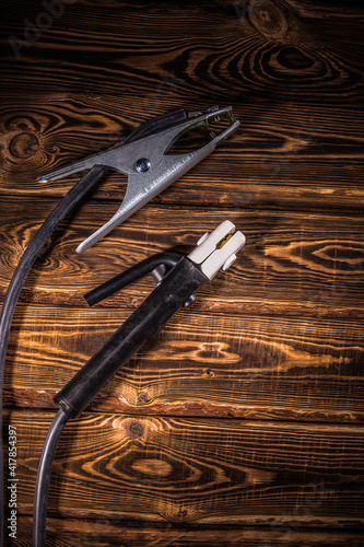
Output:
M32 547L32 519L19 519L17 545ZM363 534L351 531L263 528L256 526L183 526L48 519L48 540L57 547L362 547Z

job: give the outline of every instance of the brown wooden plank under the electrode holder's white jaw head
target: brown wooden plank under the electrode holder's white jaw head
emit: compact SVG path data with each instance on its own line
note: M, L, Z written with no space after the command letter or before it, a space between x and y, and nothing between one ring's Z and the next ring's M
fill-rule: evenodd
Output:
M0 198L3 211L0 252L2 294L37 225L58 201ZM26 298L43 303L81 304L82 294L146 256L195 245L224 219L246 234L247 244L233 268L200 291L208 309L257 313L261 305L279 313L360 315L363 309L363 218L283 211L242 211L146 206L82 255L77 245L104 224L115 203L82 206L57 232L26 281ZM190 247L189 247L190 248ZM121 257L121 258L120 258ZM150 293L142 280L109 299L110 305L136 304ZM26 299L25 299L26 301ZM255 306L255 310L253 310Z

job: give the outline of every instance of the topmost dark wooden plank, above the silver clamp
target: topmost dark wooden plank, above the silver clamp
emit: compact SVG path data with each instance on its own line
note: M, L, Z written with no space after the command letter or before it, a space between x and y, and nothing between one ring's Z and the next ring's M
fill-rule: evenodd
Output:
M357 2L338 9L230 0L211 8L204 0L166 10L163 2L122 2L120 9L108 1L105 9L84 0L55 18L38 2L22 1L8 2L2 22L2 83L10 91L129 90L143 101L164 78L181 82L185 95L214 102L226 90L231 98L361 101Z

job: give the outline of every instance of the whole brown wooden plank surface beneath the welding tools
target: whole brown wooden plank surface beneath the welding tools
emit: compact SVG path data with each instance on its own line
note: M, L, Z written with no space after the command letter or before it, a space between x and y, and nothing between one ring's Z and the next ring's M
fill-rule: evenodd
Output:
M121 201L125 181L108 175L33 267L4 386L19 442L13 545L32 544L54 395L153 281L92 310L83 293L224 219L247 237L235 265L67 424L48 544L364 545L361 2L59 2L52 15L38 0L2 4L1 296L78 179L38 175L180 107L231 104L242 126L77 255Z

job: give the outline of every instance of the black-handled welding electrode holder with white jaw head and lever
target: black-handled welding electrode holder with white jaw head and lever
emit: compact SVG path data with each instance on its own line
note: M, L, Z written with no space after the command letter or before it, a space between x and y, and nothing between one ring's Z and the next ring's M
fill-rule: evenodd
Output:
M161 268L165 271L144 302L56 395L55 403L68 417L78 416L144 341L156 335L180 307L191 301L206 281L212 279L220 268L227 269L233 264L235 252L245 243L244 235L240 232L233 235L234 231L234 224L225 221L211 234L201 237L188 256L161 253L85 295L89 304L94 304L148 272L160 270L161 278Z

